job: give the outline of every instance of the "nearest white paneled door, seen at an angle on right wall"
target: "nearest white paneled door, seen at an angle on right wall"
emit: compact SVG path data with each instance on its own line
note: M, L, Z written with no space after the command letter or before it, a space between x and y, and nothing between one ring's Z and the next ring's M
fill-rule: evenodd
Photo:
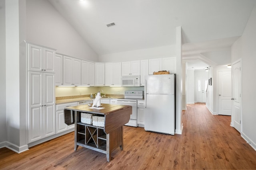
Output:
M233 102L232 102L232 125L237 131L241 132L241 69L240 61L232 65L233 79Z

